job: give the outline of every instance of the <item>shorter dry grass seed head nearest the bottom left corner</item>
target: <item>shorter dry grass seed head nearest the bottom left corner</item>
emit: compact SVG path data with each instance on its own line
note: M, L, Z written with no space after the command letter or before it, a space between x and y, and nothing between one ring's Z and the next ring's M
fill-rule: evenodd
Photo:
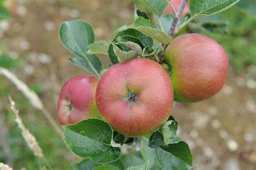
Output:
M21 117L19 117L19 111L15 107L15 101L13 101L10 97L10 104L11 104L11 110L15 113L15 121L18 124L18 127L22 130L22 136L26 141L26 144L28 144L29 148L33 153L39 157L42 158L45 162L45 165L48 166L49 169L52 169L49 162L45 159L42 148L38 145L38 142L36 138L29 132L28 129L24 126Z

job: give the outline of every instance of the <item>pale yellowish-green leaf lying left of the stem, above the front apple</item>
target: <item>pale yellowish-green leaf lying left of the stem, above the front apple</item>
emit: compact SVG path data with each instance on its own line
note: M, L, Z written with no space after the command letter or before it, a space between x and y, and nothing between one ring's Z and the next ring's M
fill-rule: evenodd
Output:
M140 26L142 25L142 26ZM129 28L135 29L145 35L157 40L158 43L170 43L172 38L167 35L164 31L151 28L149 20L138 17Z

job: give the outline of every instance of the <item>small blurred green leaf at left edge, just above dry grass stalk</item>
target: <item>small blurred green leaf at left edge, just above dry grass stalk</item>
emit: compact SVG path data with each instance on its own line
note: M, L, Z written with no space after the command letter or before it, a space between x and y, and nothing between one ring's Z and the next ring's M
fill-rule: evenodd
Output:
M20 59L14 59L8 55L0 55L0 67L10 69L13 67L18 67L23 64L23 61Z

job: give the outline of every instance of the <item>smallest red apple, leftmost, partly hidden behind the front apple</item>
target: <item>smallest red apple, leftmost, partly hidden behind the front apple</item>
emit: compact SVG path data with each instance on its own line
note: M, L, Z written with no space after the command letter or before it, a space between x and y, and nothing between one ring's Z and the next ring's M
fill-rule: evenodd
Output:
M86 118L99 118L95 103L98 78L76 76L66 81L58 100L58 117L61 125L76 124Z

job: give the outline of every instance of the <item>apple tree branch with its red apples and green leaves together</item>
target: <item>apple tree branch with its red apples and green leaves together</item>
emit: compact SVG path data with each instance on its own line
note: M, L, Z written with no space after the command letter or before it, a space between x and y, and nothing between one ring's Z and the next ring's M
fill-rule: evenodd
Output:
M133 23L116 30L111 42L95 42L85 21L60 25L60 40L73 54L70 62L91 74L69 80L60 92L66 146L85 158L75 169L193 167L189 146L176 135L173 101L191 103L218 93L228 57L211 38L181 34L193 19L238 1L182 0L174 7L172 1L140 0L153 15L135 7ZM111 63L103 65L98 54Z

